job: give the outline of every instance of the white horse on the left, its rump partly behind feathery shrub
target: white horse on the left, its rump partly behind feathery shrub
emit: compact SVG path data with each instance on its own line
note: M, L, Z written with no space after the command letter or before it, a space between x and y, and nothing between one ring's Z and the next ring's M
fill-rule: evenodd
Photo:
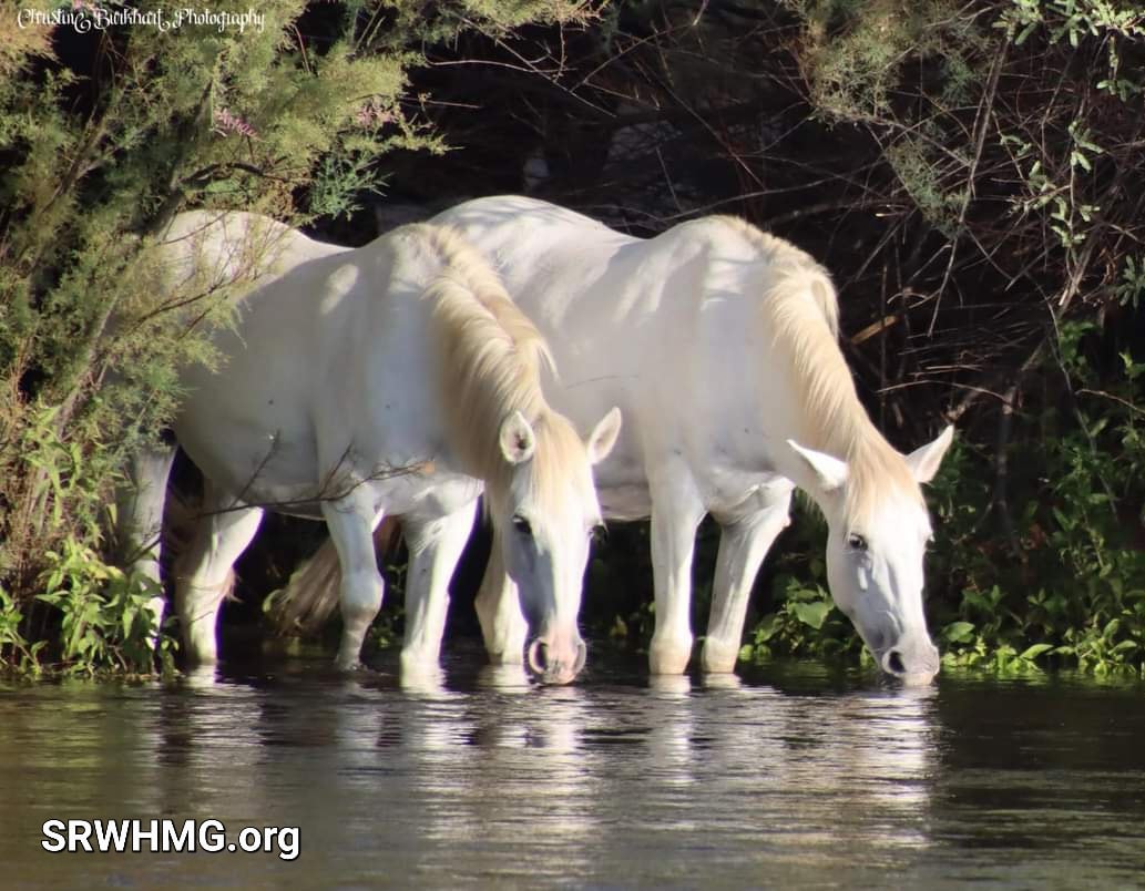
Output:
M590 535L591 465L619 412L587 441L546 403L548 348L497 276L448 228L409 226L346 250L244 213L182 214L160 246L167 281L215 287L258 274L238 322L213 334L222 370L181 370L175 436L203 472L204 517L179 563L175 606L194 661L216 656L219 605L263 510L324 519L341 568L338 664L357 663L381 605L372 530L403 518L410 550L403 669L435 667L447 586L484 491L520 588L528 663L566 683ZM158 581L174 447L140 455L124 517ZM522 639L522 647L524 641ZM520 660L521 656L518 656Z

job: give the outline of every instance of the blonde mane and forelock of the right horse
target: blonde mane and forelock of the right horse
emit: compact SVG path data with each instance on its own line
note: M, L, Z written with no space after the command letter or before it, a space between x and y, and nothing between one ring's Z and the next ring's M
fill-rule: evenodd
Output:
M838 298L827 270L782 238L737 218L722 220L759 247L768 267L761 309L772 334L771 348L796 388L800 417L795 437L847 463L847 523L867 523L889 490L923 504L906 460L871 424L859 401L838 345Z

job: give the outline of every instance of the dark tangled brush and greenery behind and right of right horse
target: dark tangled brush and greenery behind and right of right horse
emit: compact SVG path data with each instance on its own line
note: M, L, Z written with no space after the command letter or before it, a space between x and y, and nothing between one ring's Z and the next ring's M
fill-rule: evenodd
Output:
M466 45L489 64L460 85L440 58L432 82L457 107L439 126L474 147L441 166L637 234L736 212L810 250L836 276L879 427L905 450L958 427L931 489L927 609L948 661L1140 671L1138 5L665 0L606 16L576 40ZM495 153L481 183L465 165ZM453 199L405 164L409 197ZM859 652L822 535L804 512L779 539L751 654ZM645 542L614 529L600 552L600 630L648 633Z

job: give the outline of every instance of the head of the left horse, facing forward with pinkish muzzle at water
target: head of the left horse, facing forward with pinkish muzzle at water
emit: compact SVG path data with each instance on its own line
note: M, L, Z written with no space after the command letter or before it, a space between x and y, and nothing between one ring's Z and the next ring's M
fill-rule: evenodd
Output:
M584 667L577 615L589 545L601 523L592 465L608 456L619 429L615 408L584 441L548 410L532 424L514 411L500 426L512 473L503 491L489 491L489 506L529 624L526 664L551 684L569 683Z

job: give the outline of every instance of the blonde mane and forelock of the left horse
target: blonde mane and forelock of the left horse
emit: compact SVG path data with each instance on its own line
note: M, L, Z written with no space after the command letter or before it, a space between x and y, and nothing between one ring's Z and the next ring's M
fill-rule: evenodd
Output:
M555 373L548 345L484 258L457 230L425 223L409 228L444 263L424 299L433 303L437 378L450 444L467 472L485 481L489 497L504 498L513 465L502 454L500 425L520 411L536 434L529 484L531 497L544 510L559 497L556 482L567 468L586 459L572 425L548 407L542 392L542 371Z

